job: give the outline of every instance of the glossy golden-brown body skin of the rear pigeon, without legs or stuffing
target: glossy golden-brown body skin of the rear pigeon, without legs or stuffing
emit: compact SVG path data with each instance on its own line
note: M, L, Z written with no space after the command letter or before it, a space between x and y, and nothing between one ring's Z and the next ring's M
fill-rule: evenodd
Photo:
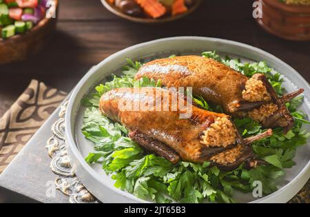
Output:
M180 65L183 68L174 67ZM231 113L230 105L242 99L247 77L228 66L203 56L176 56L145 63L135 79L146 76L167 87L193 87L194 94L222 105Z

